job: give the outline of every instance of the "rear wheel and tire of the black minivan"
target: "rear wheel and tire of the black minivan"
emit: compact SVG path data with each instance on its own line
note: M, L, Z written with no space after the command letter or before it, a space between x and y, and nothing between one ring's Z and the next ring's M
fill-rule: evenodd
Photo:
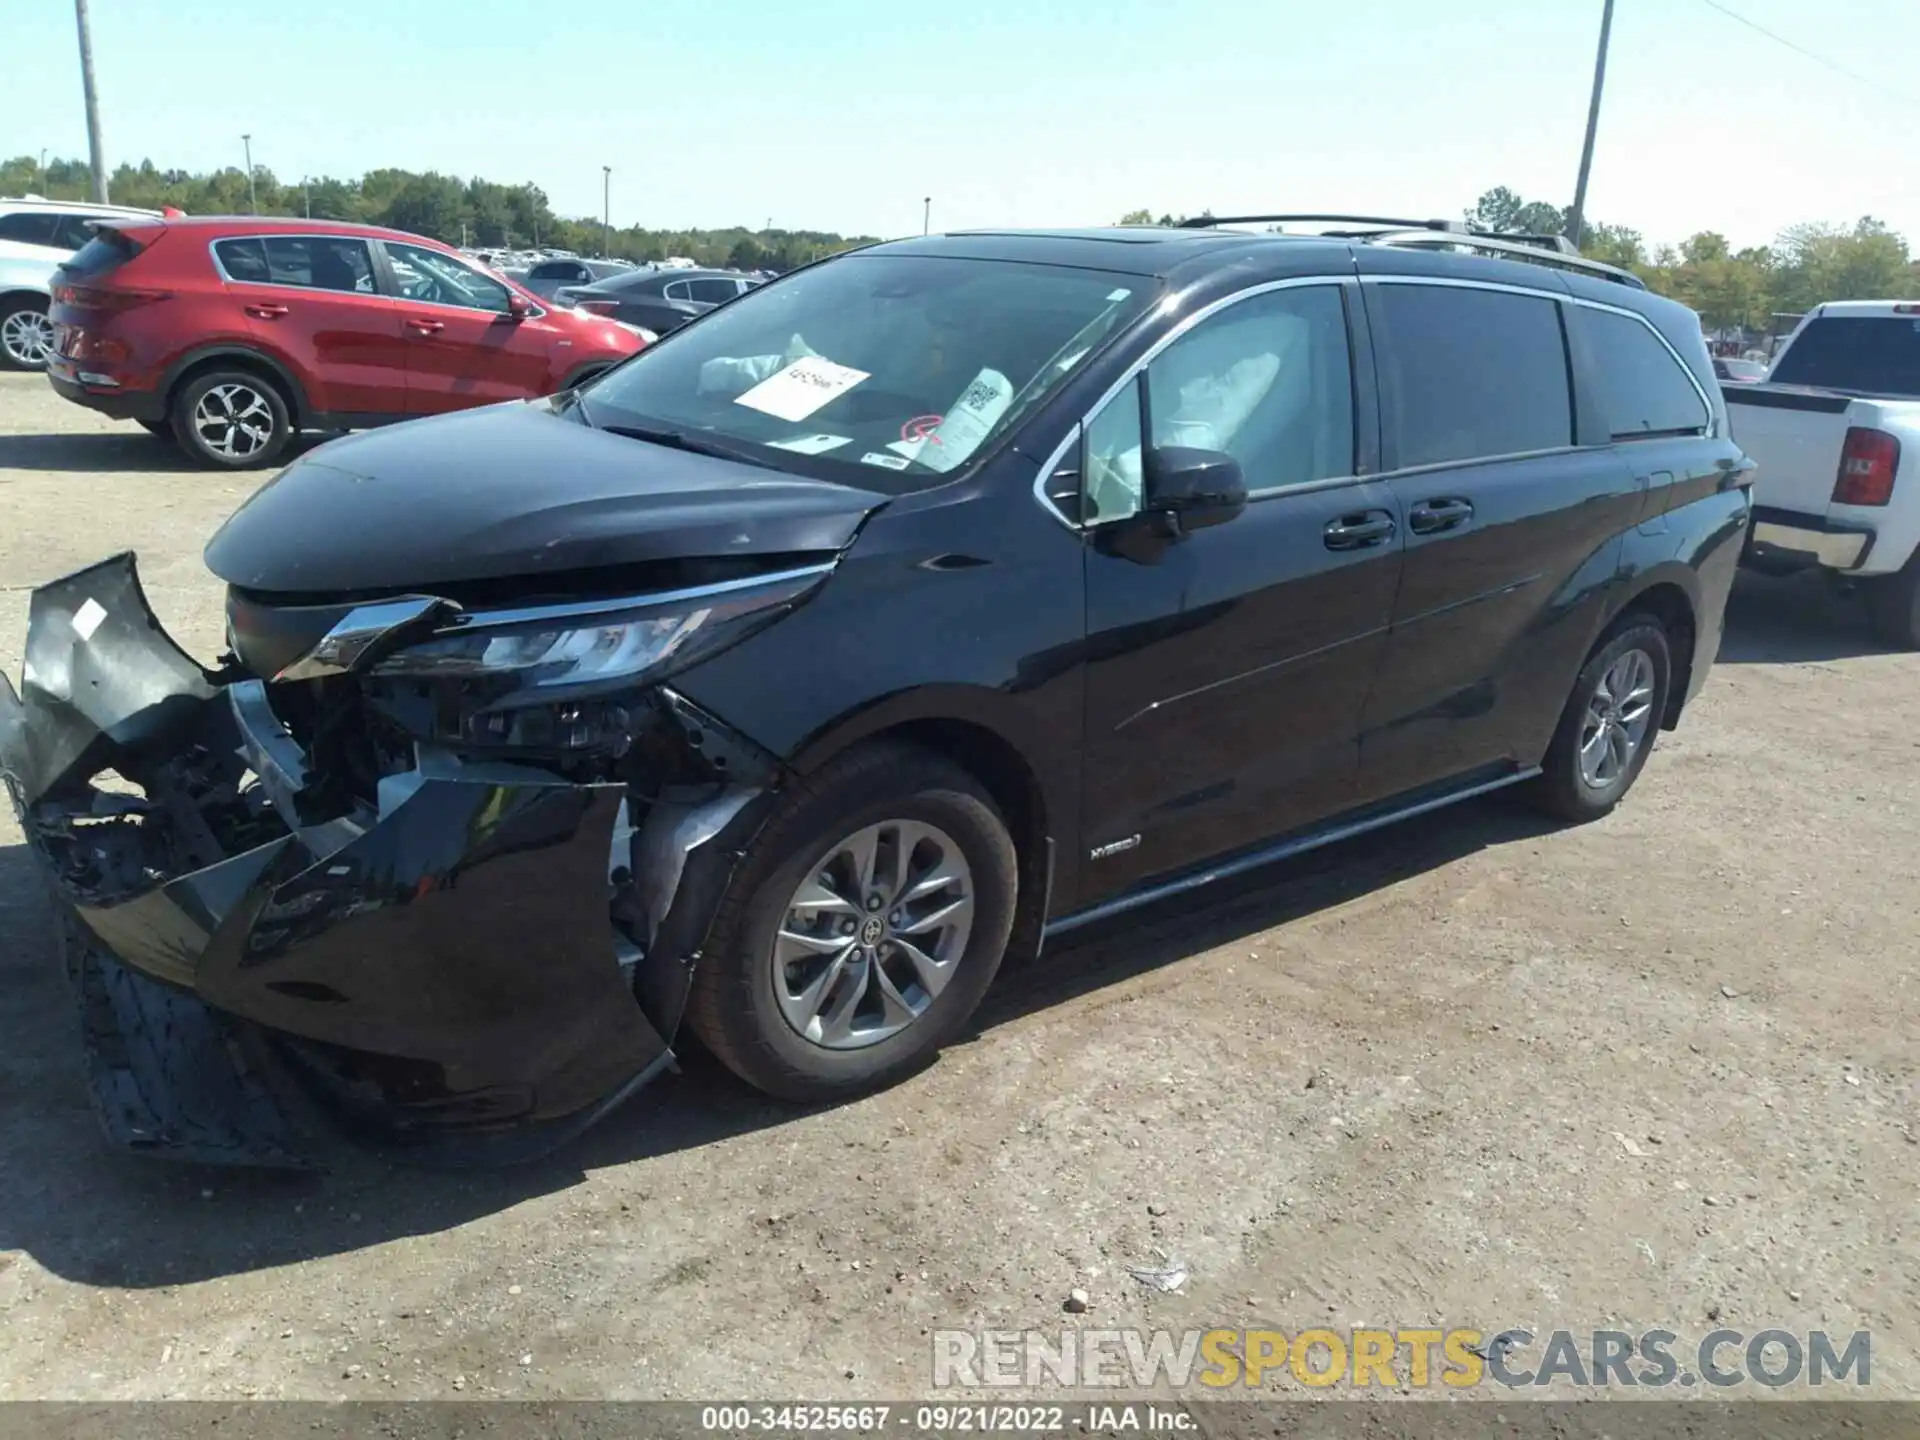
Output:
M1653 753L1672 653L1649 614L1626 614L1580 666L1530 799L1576 824L1599 820L1634 787Z

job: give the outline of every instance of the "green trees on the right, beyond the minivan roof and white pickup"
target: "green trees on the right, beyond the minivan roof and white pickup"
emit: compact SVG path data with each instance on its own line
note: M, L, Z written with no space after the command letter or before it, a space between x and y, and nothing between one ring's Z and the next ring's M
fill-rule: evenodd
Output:
M1208 219L1206 215L1198 219ZM1505 186L1480 196L1465 219L1476 228L1567 234L1569 213L1523 200ZM1121 225L1179 225L1144 209ZM1770 246L1734 250L1724 234L1701 230L1678 246L1649 248L1626 225L1588 221L1580 252L1632 271L1649 290L1695 309L1711 330L1768 330L1774 315L1801 315L1826 300L1920 298L1920 259L1905 236L1866 215L1853 225L1791 225Z

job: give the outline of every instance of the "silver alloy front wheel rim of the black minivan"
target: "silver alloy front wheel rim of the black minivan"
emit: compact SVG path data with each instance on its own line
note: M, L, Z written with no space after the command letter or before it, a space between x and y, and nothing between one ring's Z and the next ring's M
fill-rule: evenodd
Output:
M801 1039L858 1050L939 996L973 929L973 872L937 826L883 820L828 849L774 937L780 1014Z

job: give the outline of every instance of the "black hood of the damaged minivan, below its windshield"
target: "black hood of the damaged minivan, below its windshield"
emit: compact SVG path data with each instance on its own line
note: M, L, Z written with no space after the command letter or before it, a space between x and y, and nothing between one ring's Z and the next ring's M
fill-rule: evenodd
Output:
M207 541L255 591L372 593L839 551L887 497L591 430L545 401L334 440Z

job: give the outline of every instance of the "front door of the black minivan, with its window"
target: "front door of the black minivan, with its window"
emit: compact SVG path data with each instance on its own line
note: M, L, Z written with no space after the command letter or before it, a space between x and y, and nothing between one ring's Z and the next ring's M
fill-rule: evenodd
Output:
M1400 578L1356 305L1311 280L1202 311L1083 428L1089 900L1350 799ZM1142 434L1233 455L1246 509L1139 551Z

